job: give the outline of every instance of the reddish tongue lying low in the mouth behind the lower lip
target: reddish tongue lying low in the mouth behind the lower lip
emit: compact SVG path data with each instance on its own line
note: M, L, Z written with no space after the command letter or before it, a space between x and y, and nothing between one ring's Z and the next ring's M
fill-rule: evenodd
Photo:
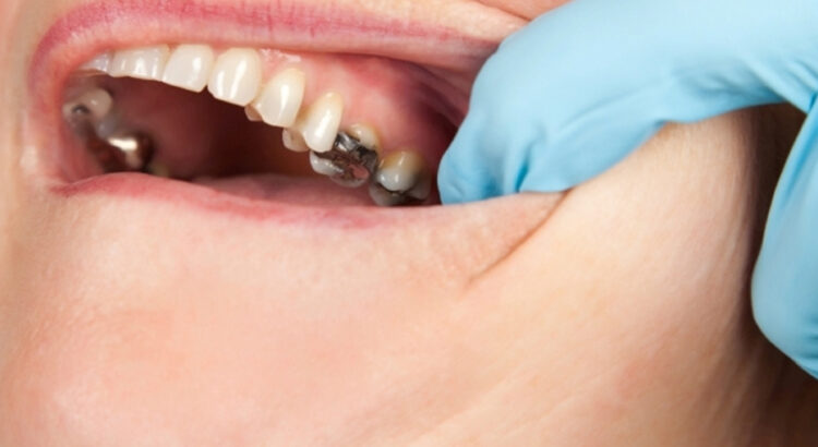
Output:
M291 205L322 207L373 206L365 188L348 190L336 185L327 179L280 174L249 174L217 179L201 178L194 180L193 183L227 194Z

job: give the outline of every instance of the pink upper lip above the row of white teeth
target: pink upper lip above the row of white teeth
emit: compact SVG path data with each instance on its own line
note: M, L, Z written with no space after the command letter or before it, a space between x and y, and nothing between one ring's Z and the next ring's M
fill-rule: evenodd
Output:
M75 67L103 50L173 41L365 53L473 73L509 31L467 34L469 27L431 26L362 11L358 4L98 0L69 11L48 28L34 53L29 89L40 102L47 101ZM515 22L507 23L510 28Z

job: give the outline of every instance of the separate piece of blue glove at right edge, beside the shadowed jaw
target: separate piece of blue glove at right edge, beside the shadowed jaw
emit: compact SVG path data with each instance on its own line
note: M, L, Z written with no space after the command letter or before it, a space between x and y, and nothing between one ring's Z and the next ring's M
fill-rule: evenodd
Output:
M753 312L765 336L818 378L818 107L775 190L753 278Z

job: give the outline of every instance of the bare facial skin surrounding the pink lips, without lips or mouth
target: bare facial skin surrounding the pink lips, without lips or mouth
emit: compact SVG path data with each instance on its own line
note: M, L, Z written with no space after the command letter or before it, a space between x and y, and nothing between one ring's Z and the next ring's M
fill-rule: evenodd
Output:
M496 43L556 3L349 4L471 13L480 28L450 25ZM79 4L0 3L0 445L818 437L818 388L748 309L786 109L670 126L567 194L317 238L321 222L44 186L28 64Z

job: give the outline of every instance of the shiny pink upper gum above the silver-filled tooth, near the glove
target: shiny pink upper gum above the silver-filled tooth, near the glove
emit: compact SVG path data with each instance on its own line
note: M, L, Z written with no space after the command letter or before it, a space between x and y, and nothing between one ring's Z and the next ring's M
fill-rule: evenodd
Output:
M288 68L306 74L302 112L316 98L335 92L344 98L341 130L352 124L373 128L385 153L411 148L436 166L462 117L443 99L449 86L406 62L369 56L293 55L261 50L264 78Z

